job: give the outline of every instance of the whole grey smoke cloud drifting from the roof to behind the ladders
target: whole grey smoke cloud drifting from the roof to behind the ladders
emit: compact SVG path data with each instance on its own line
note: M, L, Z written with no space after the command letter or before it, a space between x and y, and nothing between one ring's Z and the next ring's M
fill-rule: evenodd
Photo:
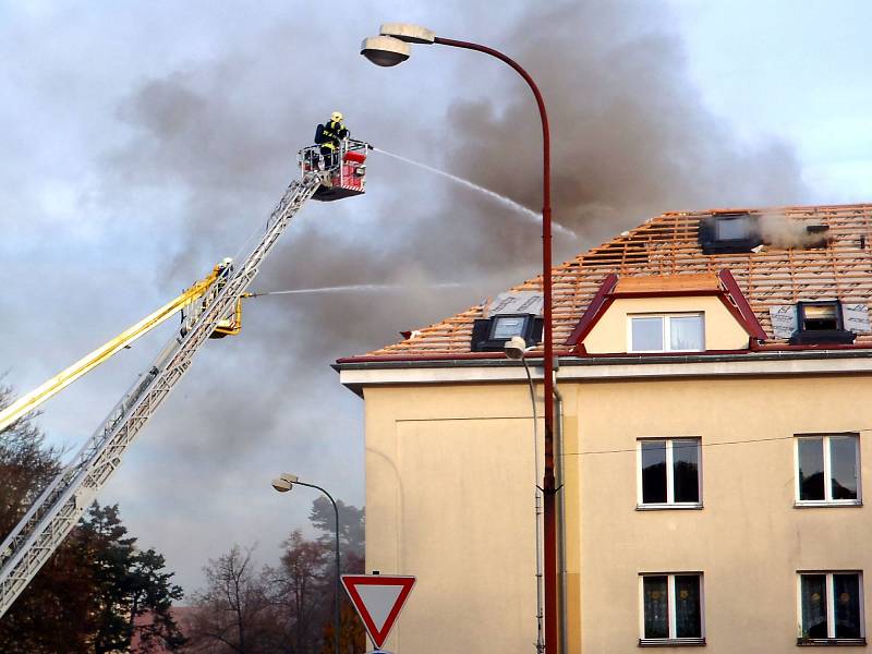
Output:
M787 145L740 143L702 105L667 23L655 2L549 2L482 37L510 50L545 94L557 218L582 237L557 240L558 261L663 210L804 197ZM472 24L446 35L475 39ZM164 287L185 286L235 253L295 174L296 149L336 108L354 134L387 150L540 207L538 119L520 80L470 52L422 51L397 71L353 51L317 56L326 38L353 43L362 28L284 22L218 61L146 80L121 104L131 140L107 158L107 202L154 202L156 216L169 216L156 218L172 234L168 261L156 263ZM155 468L167 480L155 502L172 504L179 480L247 488L286 462L325 483L359 485L360 401L328 364L536 275L536 226L376 157L367 195L306 206L255 287L409 283L408 291L246 303L242 337L210 343L153 426ZM446 281L470 286L427 288ZM222 509L211 507L216 517Z

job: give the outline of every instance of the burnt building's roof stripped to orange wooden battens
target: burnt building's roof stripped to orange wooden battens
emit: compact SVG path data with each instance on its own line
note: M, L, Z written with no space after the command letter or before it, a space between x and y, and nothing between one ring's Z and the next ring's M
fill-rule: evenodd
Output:
M767 245L760 252L703 254L698 240L700 220L739 211L783 222L786 218L800 226L802 222L826 225L829 242L823 247ZM711 274L725 268L730 270L748 299L767 334L767 342L784 343L786 341L772 336L770 306L795 304L799 300L834 299L868 304L872 299L872 204L678 211L652 218L553 269L555 349L566 349L562 344L609 274L619 277ZM540 276L511 290L541 288ZM487 301L483 301L366 356L422 359L469 354L472 323L484 317L486 306ZM872 346L872 335L859 335L857 343Z

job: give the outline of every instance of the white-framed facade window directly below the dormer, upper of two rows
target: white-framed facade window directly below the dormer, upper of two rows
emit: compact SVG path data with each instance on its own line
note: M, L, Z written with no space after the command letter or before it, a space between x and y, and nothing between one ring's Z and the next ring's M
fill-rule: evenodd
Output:
M639 441L638 508L700 508L700 479L699 438Z

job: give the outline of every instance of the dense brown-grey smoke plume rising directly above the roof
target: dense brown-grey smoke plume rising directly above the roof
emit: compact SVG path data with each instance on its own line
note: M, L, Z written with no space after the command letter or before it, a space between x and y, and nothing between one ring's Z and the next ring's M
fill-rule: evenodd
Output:
M542 7L505 43L545 97L557 219L600 241L665 210L804 198L787 144L740 143L703 106L662 5ZM510 90L452 106L457 164L474 181L540 206L535 105L520 77L508 69L504 75L500 88ZM482 214L475 223L491 231L497 217Z

